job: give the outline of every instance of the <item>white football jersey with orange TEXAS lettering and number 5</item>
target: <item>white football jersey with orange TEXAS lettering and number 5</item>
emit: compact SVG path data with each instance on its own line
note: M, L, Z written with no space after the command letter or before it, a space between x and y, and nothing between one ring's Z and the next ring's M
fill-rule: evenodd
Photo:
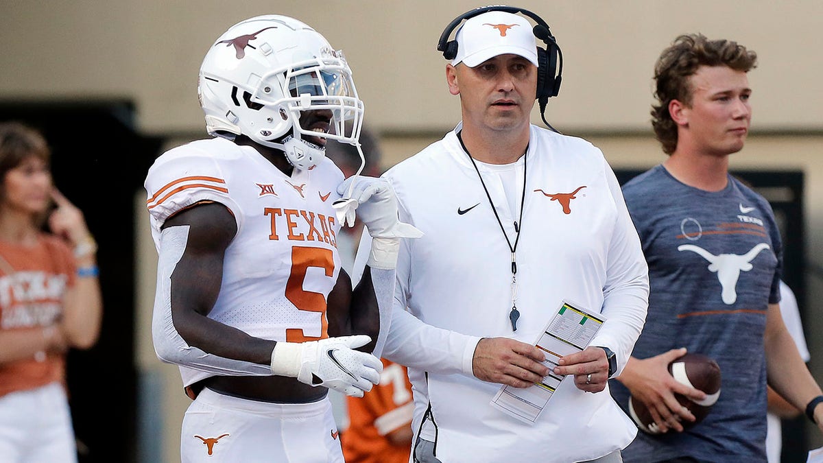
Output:
M165 152L146 177L151 233L200 201L221 203L237 222L220 296L209 318L277 341L327 338L326 301L341 268L332 203L342 172L323 159L289 177L253 147L224 138ZM211 376L181 367L184 386Z

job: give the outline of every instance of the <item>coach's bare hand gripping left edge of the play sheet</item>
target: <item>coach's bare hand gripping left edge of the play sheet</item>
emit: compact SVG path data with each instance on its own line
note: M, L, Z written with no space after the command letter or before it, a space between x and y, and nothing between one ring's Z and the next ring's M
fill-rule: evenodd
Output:
M472 358L472 372L477 379L508 386L534 386L549 374L541 362L546 355L532 344L509 338L483 338Z

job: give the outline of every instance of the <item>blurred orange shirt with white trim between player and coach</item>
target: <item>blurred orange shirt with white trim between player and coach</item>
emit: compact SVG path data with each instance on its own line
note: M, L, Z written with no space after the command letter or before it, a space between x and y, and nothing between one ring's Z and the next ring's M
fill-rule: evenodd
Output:
M386 435L412 425L412 384L406 367L382 360L380 384L360 399L346 398L349 428L340 437L346 463L407 463L409 460L412 443L394 445Z

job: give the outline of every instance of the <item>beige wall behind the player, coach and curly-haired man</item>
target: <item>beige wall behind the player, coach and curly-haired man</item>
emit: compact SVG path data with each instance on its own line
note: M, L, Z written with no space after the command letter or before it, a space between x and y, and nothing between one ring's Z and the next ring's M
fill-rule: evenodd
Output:
M451 129L458 100L444 85L444 59L435 51L443 27L482 2L418 0L29 0L4 2L0 14L0 99L130 97L144 133L170 145L200 137L196 97L202 55L230 24L281 13L314 26L346 52L366 121L383 135L385 165L416 152ZM613 166L646 167L663 160L649 134L654 59L675 35L700 31L755 49L754 136L732 166L802 169L807 177L809 260L823 263L823 29L818 0L522 0L540 14L564 52L560 96L548 119L566 133L584 134ZM535 119L537 120L537 118ZM81 121L79 130L93 131ZM758 133L763 135L758 136ZM793 135L805 133L806 135ZM137 364L162 376L165 461L179 459L179 423L186 399L175 367L151 349L151 301L156 256L142 220L137 249ZM819 332L823 281L809 278L809 332ZM823 381L823 340L809 339L812 369ZM815 437L816 445L821 438Z

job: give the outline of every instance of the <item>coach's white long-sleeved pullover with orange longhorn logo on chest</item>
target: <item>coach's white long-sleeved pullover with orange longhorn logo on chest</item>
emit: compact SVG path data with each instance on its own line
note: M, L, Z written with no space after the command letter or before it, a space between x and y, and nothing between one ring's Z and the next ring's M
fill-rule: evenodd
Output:
M521 315L514 332L511 252L458 141L460 129L384 175L398 195L401 220L425 233L402 243L384 351L409 367L414 430L430 403L442 461L579 461L625 447L636 428L608 390L588 394L564 381L537 423L528 425L490 405L500 385L472 376L481 337L533 344L564 300L602 312L607 322L593 345L611 348L618 369L625 366L644 324L649 280L611 168L591 143L532 125L518 223ZM500 171L478 168L514 243L520 211L509 205ZM422 435L435 440L433 432Z

